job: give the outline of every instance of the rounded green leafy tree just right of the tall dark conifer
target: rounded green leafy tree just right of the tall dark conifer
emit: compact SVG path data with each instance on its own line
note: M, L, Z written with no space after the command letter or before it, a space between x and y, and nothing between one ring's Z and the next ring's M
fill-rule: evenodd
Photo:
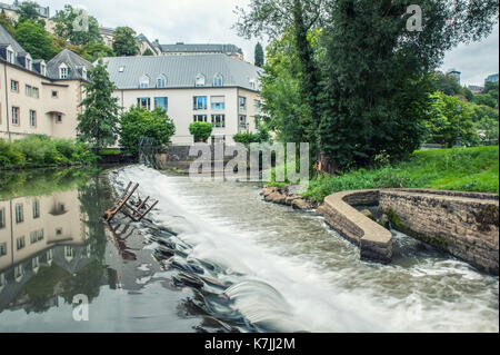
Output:
M176 126L161 108L149 111L132 107L120 118L120 145L134 155L138 154L139 138L154 138L158 146L163 146L174 134Z

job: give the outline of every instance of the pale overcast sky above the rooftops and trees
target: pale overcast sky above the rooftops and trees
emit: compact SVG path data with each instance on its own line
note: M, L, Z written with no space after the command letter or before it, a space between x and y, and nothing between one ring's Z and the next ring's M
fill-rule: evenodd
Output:
M7 2L7 1L6 1ZM38 0L53 16L66 3L86 8L104 27L129 26L149 40L160 43L233 43L253 62L257 40L244 40L231 29L233 10L250 0ZM461 45L447 53L441 70L462 72L462 85L483 85L486 77L499 71L499 26L486 40Z

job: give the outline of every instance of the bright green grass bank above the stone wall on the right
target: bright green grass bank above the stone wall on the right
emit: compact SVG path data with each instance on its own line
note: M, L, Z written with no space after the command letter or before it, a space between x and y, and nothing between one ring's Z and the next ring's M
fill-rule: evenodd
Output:
M338 191L366 188L433 188L499 191L499 147L416 151L408 160L341 176L316 178L304 197L322 201Z

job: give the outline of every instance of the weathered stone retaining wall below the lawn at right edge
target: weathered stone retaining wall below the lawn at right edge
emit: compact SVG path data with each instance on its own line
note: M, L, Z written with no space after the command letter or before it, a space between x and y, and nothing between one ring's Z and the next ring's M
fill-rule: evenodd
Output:
M489 274L499 274L498 195L439 190L381 190L392 225Z

